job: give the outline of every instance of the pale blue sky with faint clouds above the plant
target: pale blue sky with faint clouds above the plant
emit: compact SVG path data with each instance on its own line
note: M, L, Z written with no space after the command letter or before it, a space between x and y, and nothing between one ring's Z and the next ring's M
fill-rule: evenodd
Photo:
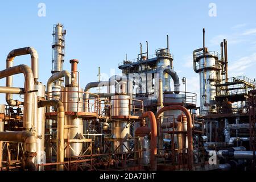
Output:
M46 16L38 16L38 4L46 4ZM217 16L210 17L209 3ZM118 63L135 59L139 42L150 54L166 47L166 35L174 54L174 69L187 77L187 90L198 92L199 75L193 72L192 51L206 45L220 52L219 43L228 40L229 75L255 77L256 2L244 1L2 1L0 5L0 69L14 48L32 46L39 53L39 81L46 84L52 68L52 26L60 22L67 30L64 69L70 59L79 59L80 85L96 81L97 68L106 77L119 73ZM145 49L144 49L145 50ZM30 65L29 56L15 59L15 65ZM2 86L5 79L0 80ZM14 86L23 87L23 77L14 77ZM5 104L1 94L0 103Z

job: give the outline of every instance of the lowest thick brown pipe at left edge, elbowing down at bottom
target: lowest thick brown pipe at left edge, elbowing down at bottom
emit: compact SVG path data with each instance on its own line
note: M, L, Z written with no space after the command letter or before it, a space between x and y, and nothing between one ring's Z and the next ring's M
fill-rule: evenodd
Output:
M26 154L36 154L36 137L30 131L10 131L0 132L0 141L6 142L22 142L25 144L24 148ZM24 159L23 159L24 160ZM36 165L32 162L30 156L24 160L25 167L29 170L35 171Z

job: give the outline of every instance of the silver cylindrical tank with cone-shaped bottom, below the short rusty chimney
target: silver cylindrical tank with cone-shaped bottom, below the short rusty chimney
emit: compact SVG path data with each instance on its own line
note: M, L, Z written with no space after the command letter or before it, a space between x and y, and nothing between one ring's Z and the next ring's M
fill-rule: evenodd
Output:
M63 102L65 111L82 112L82 89L78 87L65 87L61 89L61 102ZM73 115L65 115L65 139L82 139L83 123L81 118L74 118ZM82 142L70 143L70 156L81 155ZM67 150L65 150L67 156Z

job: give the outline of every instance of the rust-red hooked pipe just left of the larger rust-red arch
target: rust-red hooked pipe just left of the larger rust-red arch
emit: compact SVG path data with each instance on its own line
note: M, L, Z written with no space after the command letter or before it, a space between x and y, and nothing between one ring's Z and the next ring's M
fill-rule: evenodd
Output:
M151 126L151 139L150 139L150 168L152 171L156 171L157 169L157 162L156 162L156 154L157 154L157 149L156 149L156 137L158 135L157 131L157 123L156 123L156 118L154 113L152 111L147 111L146 113L143 113L140 119L143 118L149 118L150 119L150 126Z

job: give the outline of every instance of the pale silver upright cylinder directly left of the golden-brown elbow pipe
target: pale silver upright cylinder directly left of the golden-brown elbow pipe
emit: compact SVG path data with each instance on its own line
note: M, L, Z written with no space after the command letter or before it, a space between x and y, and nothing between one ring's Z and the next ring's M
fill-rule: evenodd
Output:
M37 100L45 100L45 90L46 86L41 83L35 85ZM37 103L37 102L36 102ZM36 164L46 163L46 152L44 151L44 134L45 134L45 123L46 123L46 107L35 107L37 108L37 120L36 120L36 143L38 146L37 155L36 155ZM43 166L39 167L39 170L43 170Z

